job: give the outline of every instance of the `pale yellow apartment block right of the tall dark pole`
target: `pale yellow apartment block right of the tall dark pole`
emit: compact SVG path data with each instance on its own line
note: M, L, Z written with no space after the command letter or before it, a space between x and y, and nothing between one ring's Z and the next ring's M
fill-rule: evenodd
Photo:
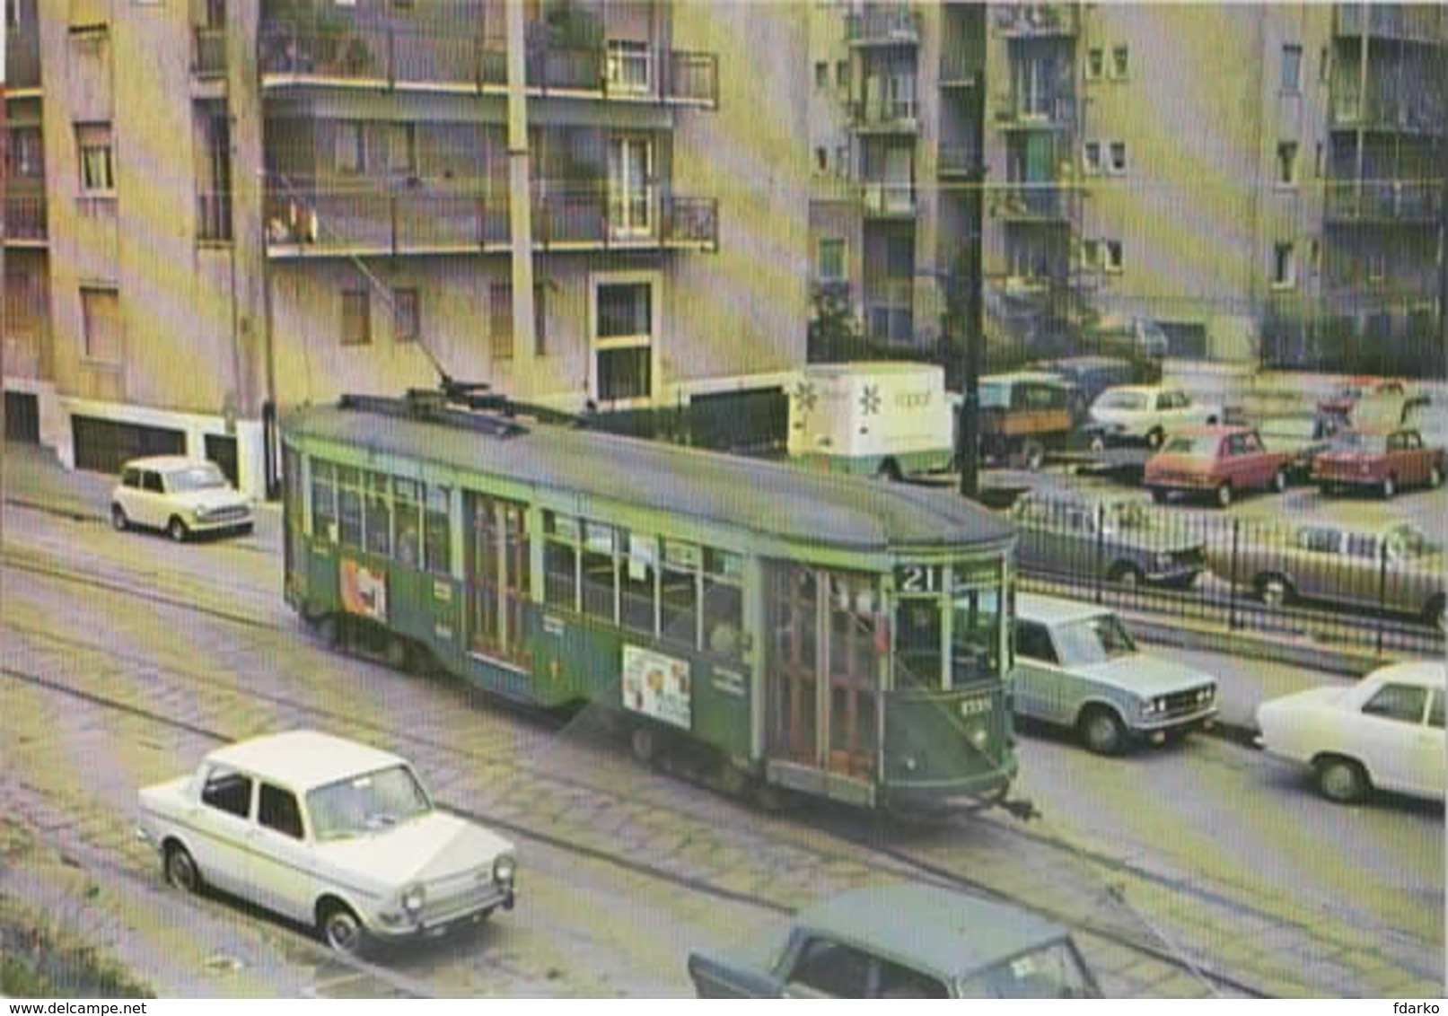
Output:
M1448 9L992 4L989 329L1442 371Z

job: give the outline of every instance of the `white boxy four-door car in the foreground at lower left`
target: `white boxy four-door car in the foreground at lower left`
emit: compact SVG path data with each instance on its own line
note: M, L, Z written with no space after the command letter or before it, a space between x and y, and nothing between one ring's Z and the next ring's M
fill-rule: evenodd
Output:
M314 731L242 741L140 792L167 881L314 926L336 951L513 909L513 844L439 810L397 755Z

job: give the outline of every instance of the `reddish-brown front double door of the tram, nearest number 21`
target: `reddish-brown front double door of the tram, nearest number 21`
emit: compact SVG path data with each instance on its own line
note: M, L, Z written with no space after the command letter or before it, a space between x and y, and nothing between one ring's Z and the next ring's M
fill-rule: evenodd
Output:
M780 564L769 596L769 754L867 780L879 719L869 576Z

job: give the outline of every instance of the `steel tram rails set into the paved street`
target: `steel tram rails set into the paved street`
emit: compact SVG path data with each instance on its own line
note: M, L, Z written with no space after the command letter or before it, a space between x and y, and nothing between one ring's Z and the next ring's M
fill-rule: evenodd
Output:
M135 599L140 599L143 602L155 604L155 605L159 605L159 606L169 606L169 608L175 608L175 609L181 609L181 611L195 612L195 614L204 615L204 617L211 618L211 619L217 619L217 621L224 621L224 622L232 622L232 624L242 625L242 627L245 627L246 630L251 630L251 631L265 630L268 632L275 632L278 635L285 635L290 640L294 640L295 635L298 634L298 631L295 628L288 627L288 625L275 624L275 622L271 622L271 621L264 621L264 619L259 619L256 617L239 614L236 611L227 611L227 609L222 609L222 608L214 608L214 606L207 606L207 605L201 605L201 604L194 604L194 602L191 602L188 599L182 599L182 598L178 598L178 596L171 596L171 595L167 595L167 593L159 593L159 592L155 592L155 590L136 589L136 588L129 586L125 582L117 582L117 580L110 579L110 577L88 576L84 572L78 572L78 570L74 570L74 569L51 567L51 566L41 564L41 563L33 563L33 562L26 562L23 564L14 563L12 566L17 566L17 567L20 567L20 570L26 570L29 573L33 573L33 575L38 575L38 576L42 576L42 577L51 577L51 579L54 579L56 582L83 583L83 585L94 588L94 589L100 589L103 592L109 592L109 593L114 593L114 595L123 595L123 596L126 596L129 599L133 599L133 601ZM153 666L146 664L140 659L127 660L123 653L117 654L116 650L113 647L109 647L109 645L101 645L98 643L93 643L93 641L81 640L81 638L58 635L58 634L55 634L52 631L42 631L42 630L36 630L36 628L29 628L28 630L25 625L12 624L10 627L14 628L14 630L17 630L17 631L25 631L26 634L30 634L32 637L39 637L39 638L45 638L45 640L58 641L58 643L65 644L65 645L68 645L71 648L77 648L77 650L83 650L83 651L106 653L110 659L120 660L122 663L127 663L129 661L129 663L146 666L148 670L151 670L152 673L155 672ZM129 714L132 716L145 719L148 722L162 724L162 725L169 727L172 729L185 731L185 732L188 732L191 735L201 737L201 738L206 738L206 740L210 740L210 741L214 741L214 742L232 741L232 740L236 740L237 737L243 737L245 735L243 731L227 731L227 729L220 729L217 727L193 724L193 722L188 722L188 721L177 718L177 716L168 716L168 715L165 715L162 712L158 712L155 709L148 709L145 706L136 705L135 702L127 702L127 700L119 699L116 696L98 693L96 690L90 690L90 689L84 689L84 687L77 687L77 686L72 686L72 685L67 685L64 682L56 682L54 679L43 677L42 674L36 674L36 673L30 673L30 672L22 672L22 670L17 670L17 669L13 669L13 667L12 669L4 669L0 673L4 673L4 676L7 679L10 679L10 680L19 680L19 682L23 682L23 683L30 683L30 685L38 686L38 687L43 687L49 693L64 695L64 696L70 696L70 698L77 699L77 700L84 700L84 702L96 706L96 708L111 709L111 711L117 711L117 712L125 712L125 714ZM237 692L237 689L233 685L229 685L226 682L220 682L216 677L213 677L210 674L200 673L200 672L168 669L168 673L171 673L174 679L181 679L182 682L187 682L187 683L190 683L193 686L207 686L207 687L210 687L213 690L227 692L227 693L236 693ZM262 699L265 702L269 702L272 705L285 708L288 711L297 711L297 712L301 712L304 715L310 715L310 716L313 716L313 718L316 718L319 721L326 721L326 722L333 724L336 727L345 727L345 728L349 728L349 729L362 729L362 731L366 731L366 732L372 732L372 734L385 732L388 737L400 740L400 741L403 741L405 744L411 744L416 748L426 748L427 753L440 753L445 757L450 757L450 758L455 758L455 760L456 758L463 758L463 760L469 760L469 761L487 761L489 764L495 764L497 763L495 758L479 757L479 753L476 753L476 751L469 751L465 747L459 747L459 745L455 745L455 744L447 744L447 742L434 740L434 738L426 738L426 737L418 735L418 734L403 734L403 735L398 735L398 732L395 729L392 729L392 728L385 728L384 729L384 728L381 728L381 727L378 727L375 724L369 725L365 719L359 718L353 712L343 712L343 711L336 711L336 709L320 708L320 706L317 706L314 703L304 702L304 700L301 700L297 696L274 693L274 692L268 692L268 690L258 689L258 687L248 687L248 689L245 689L245 693L248 696L253 696L253 698ZM557 721L557 718L553 716L552 714L542 714L542 715L539 715L539 711L533 711L533 712L534 712L534 715L526 716L526 718L531 719L534 722L552 724L555 729L560 725L559 721ZM510 764L511 766L518 766L518 767L529 767L529 763L526 760L515 760L515 761L513 761ZM617 797L617 790L615 789L601 787L598 784L588 783L586 780L578 780L575 777L559 776L557 773L553 773L553 771L539 770L536 766L533 769L536 770L536 776L540 776L540 777L546 779L549 783L556 784L556 786L559 786L559 787L562 787L565 790L582 792L582 793L586 793L586 795L601 795L604 797ZM514 834L517 837L533 839L533 841L536 841L539 844L546 844L546 845L549 845L549 847L552 847L555 850L571 852L573 855L586 857L586 858L589 858L592 861L597 861L597 863L611 864L611 865L615 865L615 867L618 867L621 870L627 870L627 871L631 871L631 873L639 874L639 876L644 876L644 877L649 877L649 879L656 879L656 880L660 880L660 881L663 881L663 883L666 883L666 884L669 884L669 886L672 886L675 889L681 889L681 890L691 892L691 893L710 894L710 896L714 896L714 897L721 899L721 900L730 900L730 902L736 902L736 903L752 905L752 906L757 906L757 907L760 907L763 910L769 910L769 912L773 912L773 913L791 913L792 909L794 909L794 907L791 907L788 905L780 903L779 899L775 899L775 897L770 897L770 896L765 896L765 894L759 894L759 893L749 893L749 892L738 892L738 890L730 889L727 886L714 884L714 883L711 883L707 879L691 877L691 876L686 876L686 874L681 874L678 871L670 871L670 870L668 870L665 867L660 867L660 865L641 863L637 858L624 857L623 854L618 854L617 851L610 851L610 850L599 848L599 847L591 847L588 844L579 844L579 842L575 842L572 839L555 835L553 832L549 832L547 829L539 828L536 825L530 825L530 824L526 824L526 822L518 822L518 821L513 821L513 819L507 819L507 818L500 818L498 815L494 815L494 813L487 813L487 815L478 813L473 809L456 808L456 806L449 805L447 802L443 802L443 803L447 805L452 810L458 810L462 815L468 815L468 816L475 818L475 819L478 819L481 822L485 822L488 825L497 826L500 829L505 829L505 831L508 831L508 832L511 832L511 834ZM694 815L692 818L704 819L702 815ZM1100 939L1103 939L1106 942L1112 942L1115 945L1128 948L1132 952L1137 952L1137 954L1142 955L1144 958L1151 958L1151 960L1154 960L1157 962L1166 964L1167 967L1173 967L1176 970L1189 973L1193 977L1202 978L1205 983L1224 987L1224 989L1226 989L1226 990L1229 990L1232 993L1248 994L1248 996L1258 996L1258 997L1261 997L1261 996L1266 994L1264 991L1261 991L1260 989L1257 989L1255 986L1253 986L1251 983L1248 983L1244 978L1234 977L1234 975L1229 975L1229 974L1224 974L1224 973L1215 971L1215 970L1202 968L1200 964L1195 964L1195 962L1190 962L1190 961L1184 960L1174 949L1171 949L1169 947L1163 947L1161 944L1151 941L1150 936L1140 935L1140 934L1131 934L1131 932L1127 932L1127 931L1124 931L1121 928L1111 928L1111 926L1100 925L1098 922L1082 922L1079 918L1073 918L1072 915L1069 915L1066 912L1056 910L1056 909L1051 909L1048 906L1041 906L1040 902L1022 900L1022 899L1019 899L1016 896L1011 896L1009 893L1003 893L1002 890L999 890L995 886L990 886L985 880L975 879L975 877L972 877L969 874L964 874L964 873L961 873L961 871L959 871L959 870L956 870L956 868L953 868L953 867L950 867L947 864L941 864L941 863L933 861L933 860L930 860L927 857L919 857L919 855L917 855L917 854L914 854L914 852L911 852L908 850L899 848L899 847L893 847L893 845L888 845L888 844L880 844L877 839L873 839L870 837L863 837L863 835L859 834L857 829L850 829L849 826L841 826L837 822L828 822L828 821L827 822L818 822L818 821L812 821L811 818L807 818L802 825L805 825L807 828L815 829L817 832L827 834L833 839L835 839L837 842L847 844L854 851L862 851L862 852L867 854L869 857L873 858L872 867L876 868L876 870L879 870L879 871L889 871L892 876L896 876L896 877L901 876L902 873L909 873L909 874L914 874L918 879L922 879L922 880L927 880L927 881L931 881L931 883L935 883L935 884L953 886L953 887L959 887L959 889L963 889L963 890L967 890L967 892L972 892L972 893L976 893L976 894L986 894L986 896L992 896L995 899L1009 900L1009 902L1016 903L1019 906L1025 906L1027 909L1031 909L1031 910L1034 910L1037 913L1041 913L1043 916L1051 918L1054 920L1058 920L1058 922L1063 922L1063 923L1067 923L1067 925L1073 925L1073 926L1076 926L1077 929L1080 929L1082 932L1085 932L1089 936L1100 938ZM1008 826L1001 826L1001 828L1008 828ZM1051 848L1054 848L1054 850L1066 850L1066 847L1063 847L1061 844L1054 844L1053 842L1053 844L1048 844L1048 845ZM828 855L825 855L824 860L830 861L831 858Z

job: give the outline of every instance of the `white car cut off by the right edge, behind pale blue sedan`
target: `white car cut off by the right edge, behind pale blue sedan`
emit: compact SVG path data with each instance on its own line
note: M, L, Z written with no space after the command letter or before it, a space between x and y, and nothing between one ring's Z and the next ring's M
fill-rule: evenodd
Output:
M1337 802L1370 790L1442 800L1445 789L1442 660L1396 663L1348 687L1313 687L1257 706L1261 745L1310 766Z

